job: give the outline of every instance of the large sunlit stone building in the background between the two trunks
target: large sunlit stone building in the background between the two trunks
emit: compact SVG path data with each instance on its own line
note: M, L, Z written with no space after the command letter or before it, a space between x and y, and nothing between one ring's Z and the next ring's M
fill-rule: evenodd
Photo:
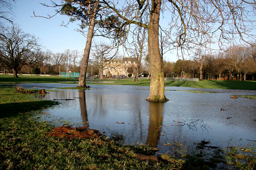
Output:
M127 69L129 67L135 67L137 64L138 61L134 57L123 57L122 59L110 60L106 62L103 74L106 75L110 72L112 76L127 76Z

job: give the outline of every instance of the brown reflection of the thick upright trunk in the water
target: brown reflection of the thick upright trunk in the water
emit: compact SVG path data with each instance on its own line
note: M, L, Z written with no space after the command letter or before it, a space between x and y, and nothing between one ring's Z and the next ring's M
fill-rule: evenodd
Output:
M149 125L146 144L151 147L157 147L161 133L160 126L163 122L164 104L160 102L148 102L148 105Z

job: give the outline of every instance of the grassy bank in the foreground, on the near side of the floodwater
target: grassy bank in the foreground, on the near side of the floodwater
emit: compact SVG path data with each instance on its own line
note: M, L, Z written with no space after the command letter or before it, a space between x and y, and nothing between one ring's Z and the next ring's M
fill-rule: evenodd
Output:
M146 145L124 146L104 135L88 139L53 137L54 125L42 121L42 109L56 105L35 94L0 88L0 169L209 169L256 167L255 149L213 150L180 156L157 154ZM68 132L72 133L71 131ZM241 154L241 152L246 152ZM246 154L248 156L246 156ZM244 163L246 162L246 163ZM219 164L221 166L219 166Z

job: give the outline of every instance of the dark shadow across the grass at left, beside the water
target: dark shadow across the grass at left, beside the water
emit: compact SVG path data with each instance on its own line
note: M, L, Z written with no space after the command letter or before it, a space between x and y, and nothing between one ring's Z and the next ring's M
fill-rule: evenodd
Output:
M0 104L0 118L16 116L19 113L26 113L28 111L36 111L51 107L58 104L58 102L42 100L35 102L19 102Z

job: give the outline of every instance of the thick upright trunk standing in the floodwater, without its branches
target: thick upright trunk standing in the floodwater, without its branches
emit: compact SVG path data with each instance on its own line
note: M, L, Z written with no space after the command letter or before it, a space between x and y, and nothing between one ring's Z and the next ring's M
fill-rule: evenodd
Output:
M166 102L164 96L164 69L160 54L158 33L161 0L152 0L150 22L148 25L148 55L150 61L150 94L147 101Z

